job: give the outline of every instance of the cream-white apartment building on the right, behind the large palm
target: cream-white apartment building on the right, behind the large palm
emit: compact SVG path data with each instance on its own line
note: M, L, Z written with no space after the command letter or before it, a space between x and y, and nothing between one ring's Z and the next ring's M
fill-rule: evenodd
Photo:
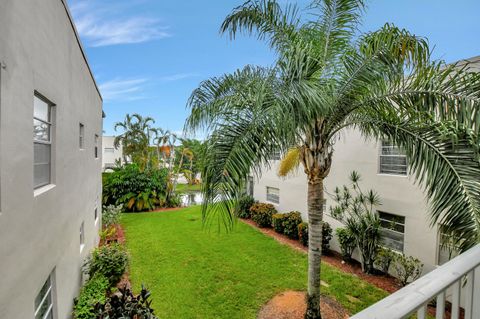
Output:
M480 71L480 56L466 62L471 69ZM414 256L425 264L428 272L448 260L448 252L440 247L438 225L431 226L428 203L422 189L408 175L408 163L402 152L385 141L365 140L358 131L348 131L334 146L333 165L325 181L327 221L332 228L343 225L328 213L336 203L330 195L335 187L349 185L349 176L357 171L362 176L363 189L373 189L380 195L378 208L380 219L386 225L383 230L386 246ZM307 220L307 181L303 170L293 177L277 176L279 159L272 162L272 169L264 170L258 180L251 180L250 189L256 200L270 202L279 212L300 211ZM395 230L391 230L394 223ZM331 247L340 251L336 236Z

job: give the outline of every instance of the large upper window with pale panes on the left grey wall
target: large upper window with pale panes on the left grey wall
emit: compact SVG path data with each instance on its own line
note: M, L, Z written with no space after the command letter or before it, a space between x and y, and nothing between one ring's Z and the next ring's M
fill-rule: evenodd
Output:
M33 186L51 183L52 105L41 97L33 98Z

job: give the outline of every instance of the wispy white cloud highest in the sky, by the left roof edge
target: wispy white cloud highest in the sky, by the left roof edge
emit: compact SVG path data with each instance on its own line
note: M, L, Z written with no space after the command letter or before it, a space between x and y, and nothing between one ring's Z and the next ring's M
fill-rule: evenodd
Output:
M100 1L77 0L71 11L78 33L88 46L141 43L170 36L158 19L120 16L128 10L113 3L100 5Z

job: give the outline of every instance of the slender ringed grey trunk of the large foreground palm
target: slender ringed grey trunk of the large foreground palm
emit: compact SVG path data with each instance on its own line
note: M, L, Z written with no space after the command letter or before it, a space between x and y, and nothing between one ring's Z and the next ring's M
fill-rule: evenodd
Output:
M308 295L305 319L321 319L320 264L322 259L323 177L308 181Z

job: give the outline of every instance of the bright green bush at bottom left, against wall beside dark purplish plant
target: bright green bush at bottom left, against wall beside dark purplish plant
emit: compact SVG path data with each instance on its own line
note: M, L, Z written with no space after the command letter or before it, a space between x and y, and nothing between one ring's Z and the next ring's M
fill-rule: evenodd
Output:
M108 279L101 274L90 278L80 290L73 307L74 319L95 318L95 305L105 303L110 288Z

